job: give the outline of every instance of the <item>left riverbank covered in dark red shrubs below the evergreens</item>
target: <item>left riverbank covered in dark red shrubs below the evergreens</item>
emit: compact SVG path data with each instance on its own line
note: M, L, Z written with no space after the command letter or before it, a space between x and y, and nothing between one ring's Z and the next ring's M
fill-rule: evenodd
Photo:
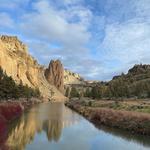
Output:
M40 102L41 101L36 98L0 102L0 145L2 145L7 138L9 124L20 117L25 110Z

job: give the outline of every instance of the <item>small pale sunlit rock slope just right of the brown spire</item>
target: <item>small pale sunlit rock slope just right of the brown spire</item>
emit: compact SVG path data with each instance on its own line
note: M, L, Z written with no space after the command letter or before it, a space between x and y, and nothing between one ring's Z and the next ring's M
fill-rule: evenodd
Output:
M84 79L77 73L73 73L67 69L64 70L64 84L85 84Z

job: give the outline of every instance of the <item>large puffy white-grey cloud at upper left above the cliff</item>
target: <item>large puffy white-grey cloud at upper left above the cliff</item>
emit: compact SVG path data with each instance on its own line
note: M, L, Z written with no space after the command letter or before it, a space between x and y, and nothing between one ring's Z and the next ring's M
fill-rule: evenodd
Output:
M24 34L43 38L49 42L58 41L70 48L83 46L89 40L90 33L86 26L69 23L47 1L35 3L34 8L36 12L23 17L21 29Z

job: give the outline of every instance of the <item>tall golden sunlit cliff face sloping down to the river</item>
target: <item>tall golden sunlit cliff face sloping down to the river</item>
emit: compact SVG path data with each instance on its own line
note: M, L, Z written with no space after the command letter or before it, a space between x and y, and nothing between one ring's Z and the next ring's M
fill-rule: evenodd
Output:
M52 92L54 99L65 99L57 88L46 80L44 67L28 54L27 46L17 37L0 37L0 66L17 83L22 81L24 85L38 87L45 99L51 98Z

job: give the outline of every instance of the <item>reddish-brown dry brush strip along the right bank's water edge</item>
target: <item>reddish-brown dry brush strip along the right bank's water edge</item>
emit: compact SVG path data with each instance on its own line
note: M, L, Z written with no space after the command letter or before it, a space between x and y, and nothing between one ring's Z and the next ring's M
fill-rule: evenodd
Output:
M90 119L98 125L107 125L144 135L150 135L149 114L106 108L92 109L91 112Z

